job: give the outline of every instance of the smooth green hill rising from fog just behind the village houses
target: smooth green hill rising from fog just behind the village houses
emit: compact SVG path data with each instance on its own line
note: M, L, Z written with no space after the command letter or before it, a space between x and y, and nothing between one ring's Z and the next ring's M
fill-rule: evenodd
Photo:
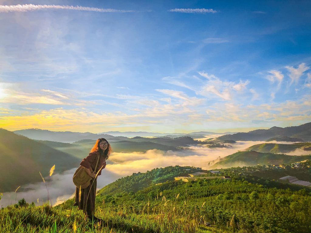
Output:
M256 166L257 164L288 164L310 158L311 155L294 156L286 154L261 153L257 151L241 151L222 158L221 161L216 162L213 166L211 166L211 168Z

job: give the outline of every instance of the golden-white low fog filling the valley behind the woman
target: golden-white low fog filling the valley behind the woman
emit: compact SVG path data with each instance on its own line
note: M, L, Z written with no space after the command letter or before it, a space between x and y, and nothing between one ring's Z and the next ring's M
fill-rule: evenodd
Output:
M210 136L210 135L209 135ZM133 172L146 172L153 168L167 167L167 166L194 166L202 167L202 169L209 169L208 163L215 161L220 157L233 154L264 141L238 141L235 144L230 144L229 148L208 148L206 146L189 146L191 150L184 151L160 151L148 150L147 152L132 152L132 153L111 153L109 156L109 164L102 171L102 175L97 179L97 189L103 188L105 185L112 183L118 178L132 175ZM275 142L292 144L293 142ZM301 153L303 152L303 153ZM291 155L309 154L308 151L295 151L287 153ZM78 166L78 164L77 164ZM49 199L53 205L62 203L64 200L73 197L75 186L72 183L72 176L77 168L65 171L61 174L55 173L51 179L46 182L49 189ZM55 169L57 171L57 168ZM48 178L47 178L48 180ZM28 191L23 191L28 190ZM37 205L42 205L47 201L47 190L43 182L35 184L22 185L16 193L3 193L0 200L0 206L6 207L9 204L14 204L19 199L25 198L28 203L35 202ZM37 203L39 199L39 204Z

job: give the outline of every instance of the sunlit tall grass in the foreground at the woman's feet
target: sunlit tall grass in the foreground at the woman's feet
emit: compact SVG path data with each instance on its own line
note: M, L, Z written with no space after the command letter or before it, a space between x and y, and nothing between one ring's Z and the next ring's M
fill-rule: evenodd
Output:
M16 207L14 205L0 210L1 232L104 232L104 233L194 233L194 232L229 232L219 228L206 228L199 225L199 219L177 212L158 212L148 214L136 213L129 208L97 207L95 214L102 219L100 223L92 225L82 210L76 207L64 209L61 206L51 207L49 203L42 206L27 204Z

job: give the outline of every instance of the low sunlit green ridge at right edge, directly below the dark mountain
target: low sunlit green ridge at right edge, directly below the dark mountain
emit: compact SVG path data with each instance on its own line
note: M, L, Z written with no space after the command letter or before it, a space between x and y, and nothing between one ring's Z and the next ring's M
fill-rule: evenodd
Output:
M308 150L310 146L311 146L310 142L293 143L293 144L262 143L248 147L245 150L254 150L262 153L288 153L294 151L297 148Z

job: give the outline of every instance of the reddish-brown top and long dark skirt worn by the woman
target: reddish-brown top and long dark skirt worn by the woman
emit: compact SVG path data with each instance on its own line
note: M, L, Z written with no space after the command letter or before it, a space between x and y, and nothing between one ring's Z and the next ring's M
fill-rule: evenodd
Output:
M95 169L98 156L99 162ZM91 168L93 171L96 172L98 169L102 167L104 169L106 167L106 161L102 155L100 155L98 152L92 152L90 153L86 158L82 160L80 163L83 167ZM101 170L98 172L98 176L101 175ZM93 183L94 181L94 183ZM93 183L93 184L92 184ZM78 206L80 210L83 210L83 212L87 216L94 215L95 212L95 197L96 197L96 187L97 187L97 177L91 180L90 185L87 186L85 189L81 189L81 200L79 201L79 189L76 187L76 196L75 196L75 203L74 206Z

